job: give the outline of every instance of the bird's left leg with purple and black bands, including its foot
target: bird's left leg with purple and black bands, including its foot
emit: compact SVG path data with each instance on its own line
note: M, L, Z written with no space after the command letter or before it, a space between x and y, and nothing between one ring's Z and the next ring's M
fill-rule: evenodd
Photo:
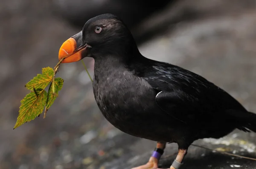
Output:
M166 147L166 142L157 142L157 147L155 148L153 154L149 158L148 163L132 169L157 169L158 161L161 155L163 155L163 151L165 147Z

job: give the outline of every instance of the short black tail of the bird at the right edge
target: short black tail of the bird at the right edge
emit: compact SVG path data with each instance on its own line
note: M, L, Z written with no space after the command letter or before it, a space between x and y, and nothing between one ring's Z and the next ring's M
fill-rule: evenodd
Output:
M237 127L239 130L256 132L256 113L232 111L229 112L229 114L235 119L237 124L239 124Z

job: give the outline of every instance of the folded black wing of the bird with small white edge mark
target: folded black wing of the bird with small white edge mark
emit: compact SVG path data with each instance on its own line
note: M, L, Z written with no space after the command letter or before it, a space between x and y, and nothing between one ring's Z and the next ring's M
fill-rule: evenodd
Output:
M189 70L174 65L152 68L145 79L159 92L155 98L157 105L180 121L216 117L230 109L244 110L224 90Z

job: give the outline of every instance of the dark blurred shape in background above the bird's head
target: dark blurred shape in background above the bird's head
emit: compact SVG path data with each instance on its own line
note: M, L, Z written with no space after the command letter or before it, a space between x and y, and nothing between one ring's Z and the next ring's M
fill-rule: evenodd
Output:
M175 0L53 0L58 11L70 23L82 27L99 14L111 13L132 27Z

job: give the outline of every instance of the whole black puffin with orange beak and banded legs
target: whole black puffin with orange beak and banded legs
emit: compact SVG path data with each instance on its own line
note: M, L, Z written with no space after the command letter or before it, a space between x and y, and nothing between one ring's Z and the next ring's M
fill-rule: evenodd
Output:
M105 118L130 135L157 141L148 163L157 169L166 143L178 144L178 169L193 141L221 138L235 129L256 132L256 114L207 79L140 54L122 20L91 18L60 48L59 60L95 60L93 93Z

